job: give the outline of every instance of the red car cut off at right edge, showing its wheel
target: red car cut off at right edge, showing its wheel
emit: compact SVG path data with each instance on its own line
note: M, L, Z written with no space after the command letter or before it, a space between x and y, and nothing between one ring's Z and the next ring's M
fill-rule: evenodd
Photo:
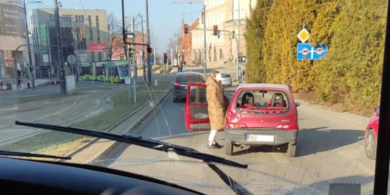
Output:
M365 155L369 159L375 159L376 157L376 140L378 134L379 124L379 106L374 107L374 113L369 120L364 132L364 148Z

